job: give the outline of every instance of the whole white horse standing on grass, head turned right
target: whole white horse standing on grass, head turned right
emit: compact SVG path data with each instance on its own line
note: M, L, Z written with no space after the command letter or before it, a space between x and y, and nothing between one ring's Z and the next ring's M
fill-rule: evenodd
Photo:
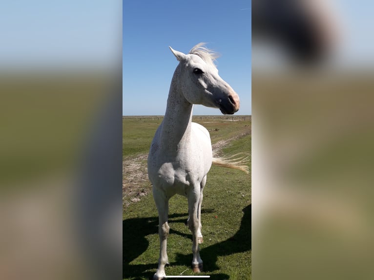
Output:
M153 185L153 198L159 214L160 258L154 280L163 279L168 263L166 239L168 201L175 194L188 199L187 225L192 232L193 272L203 269L199 254L201 203L207 173L211 164L248 172L248 166L235 160L215 159L208 130L191 122L193 104L219 108L223 114L239 110L239 97L218 75L215 53L203 43L188 54L169 47L179 61L171 80L164 120L156 131L148 155L148 177Z

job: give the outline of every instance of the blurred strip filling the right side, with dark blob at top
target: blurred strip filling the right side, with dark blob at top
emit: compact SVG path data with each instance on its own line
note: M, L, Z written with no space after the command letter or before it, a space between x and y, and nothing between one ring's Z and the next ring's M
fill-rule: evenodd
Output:
M253 279L372 279L374 4L252 1Z

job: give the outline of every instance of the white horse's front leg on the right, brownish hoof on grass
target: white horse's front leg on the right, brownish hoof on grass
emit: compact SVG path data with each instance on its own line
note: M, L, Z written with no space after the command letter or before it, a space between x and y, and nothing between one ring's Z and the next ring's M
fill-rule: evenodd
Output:
M188 196L188 227L192 232L192 269L193 272L203 271L203 261L200 258L199 253L199 220L198 220L198 208L200 200L200 186L194 188Z

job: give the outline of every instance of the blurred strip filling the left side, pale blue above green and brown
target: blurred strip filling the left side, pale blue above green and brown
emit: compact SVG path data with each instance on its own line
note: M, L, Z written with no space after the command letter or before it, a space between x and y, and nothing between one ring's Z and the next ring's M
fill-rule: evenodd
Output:
M0 279L121 279L122 2L0 6Z

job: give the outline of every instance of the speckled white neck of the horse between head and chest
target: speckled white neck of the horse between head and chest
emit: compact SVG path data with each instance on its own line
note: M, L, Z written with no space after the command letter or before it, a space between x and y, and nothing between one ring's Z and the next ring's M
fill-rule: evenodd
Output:
M191 135L192 104L183 96L179 85L180 66L171 80L166 112L162 127L162 145L166 150L177 151L189 142Z

